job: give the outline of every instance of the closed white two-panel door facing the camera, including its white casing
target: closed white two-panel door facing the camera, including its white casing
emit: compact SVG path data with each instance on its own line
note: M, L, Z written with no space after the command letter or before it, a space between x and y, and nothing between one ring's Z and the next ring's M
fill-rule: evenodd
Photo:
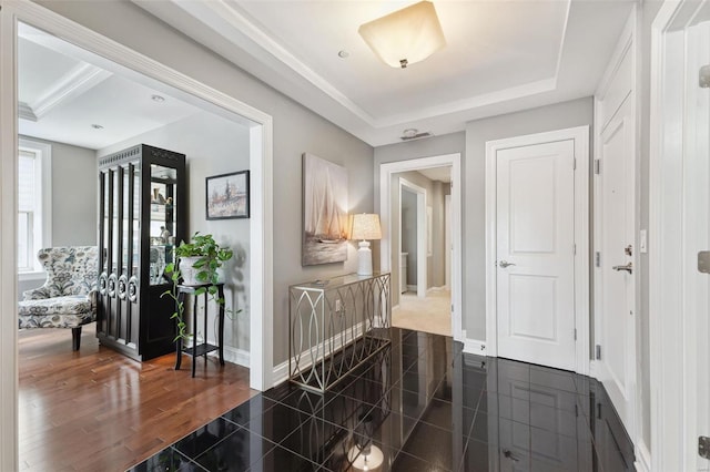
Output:
M588 373L588 126L486 143L489 356Z

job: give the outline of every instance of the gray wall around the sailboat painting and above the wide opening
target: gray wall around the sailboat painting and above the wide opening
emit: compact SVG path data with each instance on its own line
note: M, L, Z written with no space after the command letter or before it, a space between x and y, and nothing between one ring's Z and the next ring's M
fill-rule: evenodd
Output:
M275 365L285 361L288 348L288 285L357 269L354 244L349 245L348 259L344 264L301 267L301 155L308 152L344 165L349 172L351 212L372 212L372 146L274 91L133 3L121 0L52 0L38 3L273 116L273 352Z

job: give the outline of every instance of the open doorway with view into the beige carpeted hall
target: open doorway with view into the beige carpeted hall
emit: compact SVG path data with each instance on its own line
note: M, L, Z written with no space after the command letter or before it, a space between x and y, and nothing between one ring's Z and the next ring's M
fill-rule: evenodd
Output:
M381 267L392 271L397 287L393 326L457 340L463 339L459 161L450 154L383 164L379 208ZM449 261L458 260L448 268L447 253Z

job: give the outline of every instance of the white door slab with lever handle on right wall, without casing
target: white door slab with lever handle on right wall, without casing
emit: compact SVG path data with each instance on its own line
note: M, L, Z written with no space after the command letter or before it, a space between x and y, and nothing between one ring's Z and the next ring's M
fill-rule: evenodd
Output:
M627 432L636 438L635 124L632 95L601 132L597 175L599 260L597 322L601 327L597 378Z

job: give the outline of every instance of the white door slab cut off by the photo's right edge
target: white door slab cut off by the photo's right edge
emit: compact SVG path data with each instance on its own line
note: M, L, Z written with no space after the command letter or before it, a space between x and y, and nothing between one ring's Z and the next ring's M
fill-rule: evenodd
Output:
M686 123L683 136L683 304L688 362L687 470L710 470L698 452L698 438L710 438L710 2L687 28ZM700 75L700 76L699 76ZM698 85L699 82L704 82ZM710 441L709 441L710 442ZM708 449L708 448L706 448ZM706 454L710 458L710 451Z

